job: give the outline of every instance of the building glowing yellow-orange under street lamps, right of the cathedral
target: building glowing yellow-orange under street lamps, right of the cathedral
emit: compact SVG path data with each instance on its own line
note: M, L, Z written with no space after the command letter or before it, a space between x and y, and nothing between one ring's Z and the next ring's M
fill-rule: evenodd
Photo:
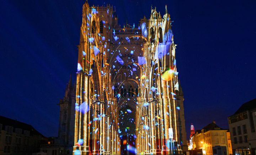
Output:
M220 128L215 122L196 130L190 138L190 148L202 149L203 154L213 155L213 146L225 146L226 154L232 154L229 130Z

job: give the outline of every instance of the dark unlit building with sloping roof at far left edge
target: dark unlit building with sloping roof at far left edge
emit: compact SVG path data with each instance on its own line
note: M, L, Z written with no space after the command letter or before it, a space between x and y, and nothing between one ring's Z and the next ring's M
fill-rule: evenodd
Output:
M0 155L31 155L46 141L31 125L0 116Z

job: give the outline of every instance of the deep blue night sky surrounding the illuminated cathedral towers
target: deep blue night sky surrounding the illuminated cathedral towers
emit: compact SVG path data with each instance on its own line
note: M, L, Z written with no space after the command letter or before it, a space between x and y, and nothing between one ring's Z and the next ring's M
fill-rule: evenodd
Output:
M0 115L58 136L59 100L75 82L85 0L0 1ZM202 129L256 98L256 1L89 0L116 6L119 24L138 25L151 5L167 5L177 44L178 78L190 124Z

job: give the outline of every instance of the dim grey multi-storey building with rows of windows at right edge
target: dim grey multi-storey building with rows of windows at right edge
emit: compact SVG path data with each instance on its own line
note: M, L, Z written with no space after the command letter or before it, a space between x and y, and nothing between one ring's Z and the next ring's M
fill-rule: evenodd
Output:
M234 155L256 155L256 98L228 117Z

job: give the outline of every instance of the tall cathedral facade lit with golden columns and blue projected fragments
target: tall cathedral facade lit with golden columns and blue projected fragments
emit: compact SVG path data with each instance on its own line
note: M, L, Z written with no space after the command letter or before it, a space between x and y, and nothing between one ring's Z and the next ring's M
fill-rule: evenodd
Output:
M82 14L73 153L182 154L183 93L167 9L163 17L151 9L138 28L118 26L110 5L86 1Z

